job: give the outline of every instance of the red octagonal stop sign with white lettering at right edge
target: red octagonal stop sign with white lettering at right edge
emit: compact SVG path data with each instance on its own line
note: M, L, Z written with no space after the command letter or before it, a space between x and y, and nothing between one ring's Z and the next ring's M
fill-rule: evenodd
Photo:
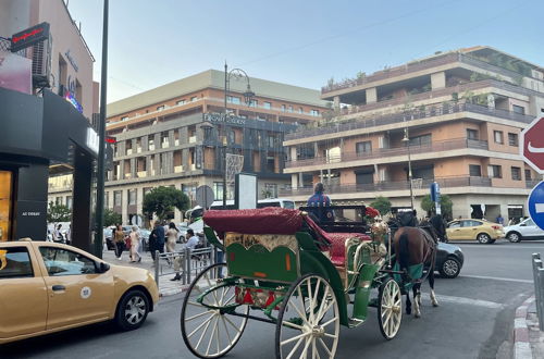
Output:
M526 163L544 174L544 117L535 119L521 132L519 150Z

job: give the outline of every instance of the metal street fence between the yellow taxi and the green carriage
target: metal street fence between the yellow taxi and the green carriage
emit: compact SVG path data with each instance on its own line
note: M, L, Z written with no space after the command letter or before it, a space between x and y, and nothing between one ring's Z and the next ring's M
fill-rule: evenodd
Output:
M154 281L159 286L160 278L180 274L183 285L190 284L193 278L205 268L215 263L217 249L206 247L198 249L184 248L181 251L160 253L154 252Z

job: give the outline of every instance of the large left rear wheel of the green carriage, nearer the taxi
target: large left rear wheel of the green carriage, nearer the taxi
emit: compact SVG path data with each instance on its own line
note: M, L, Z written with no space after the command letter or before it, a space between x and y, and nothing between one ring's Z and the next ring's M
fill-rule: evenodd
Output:
M228 315L197 302L198 296L217 287L203 297L202 304L223 308L235 305L234 285L219 286L218 270L228 277L225 263L210 265L193 281L183 300L182 337L187 348L200 358L219 358L227 354L238 343L247 323L247 318ZM242 314L249 313L249 307L240 308Z

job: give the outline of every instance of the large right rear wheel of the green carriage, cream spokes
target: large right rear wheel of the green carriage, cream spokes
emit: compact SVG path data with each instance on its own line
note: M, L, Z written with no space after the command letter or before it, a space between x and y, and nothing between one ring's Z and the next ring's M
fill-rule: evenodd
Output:
M338 302L329 282L316 274L300 277L277 315L276 358L334 358L338 334Z

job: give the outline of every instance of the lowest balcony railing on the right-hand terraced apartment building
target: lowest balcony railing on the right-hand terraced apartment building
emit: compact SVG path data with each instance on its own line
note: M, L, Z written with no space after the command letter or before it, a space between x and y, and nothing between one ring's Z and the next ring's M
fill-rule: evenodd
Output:
M436 182L442 188L452 187L491 187L491 178L487 177L445 177L435 180L422 180L420 185L412 185L413 189L429 188ZM329 195L334 194L351 194L351 193L370 193L370 191L386 191L386 190L405 190L410 189L408 181L391 182L384 181L370 184L342 184L342 185L325 185L325 190ZM290 196L309 196L313 194L312 187L298 187L290 189L280 189L280 197ZM363 195L362 195L363 196Z

